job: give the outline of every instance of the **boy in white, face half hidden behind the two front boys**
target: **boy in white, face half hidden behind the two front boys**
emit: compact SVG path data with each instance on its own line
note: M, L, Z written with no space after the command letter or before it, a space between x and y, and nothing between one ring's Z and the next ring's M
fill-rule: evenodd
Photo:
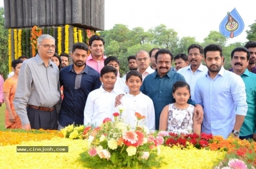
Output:
M104 65L108 65L108 66L113 66L116 68L116 70L119 73L119 60L117 59L117 57L115 56L109 56L105 59L104 61ZM125 85L125 80L120 78L119 76L116 77L116 84L115 84L115 88L116 89L121 89L124 92L129 92L129 89L127 87L127 85Z

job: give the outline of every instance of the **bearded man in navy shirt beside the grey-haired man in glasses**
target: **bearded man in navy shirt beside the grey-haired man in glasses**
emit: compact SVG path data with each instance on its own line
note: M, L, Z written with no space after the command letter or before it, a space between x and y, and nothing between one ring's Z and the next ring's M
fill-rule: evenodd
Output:
M85 63L87 52L85 43L75 43L71 54L73 64L60 71L64 98L58 117L59 130L68 124L83 124L87 96L101 85L100 74Z

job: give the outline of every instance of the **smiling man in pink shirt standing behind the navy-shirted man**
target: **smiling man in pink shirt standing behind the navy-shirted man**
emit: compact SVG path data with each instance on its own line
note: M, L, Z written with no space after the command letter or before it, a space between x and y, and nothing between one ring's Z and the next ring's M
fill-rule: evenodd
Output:
M92 67L94 70L98 71L99 73L100 70L104 67L104 60L107 58L104 55L104 45L104 39L97 34L94 34L89 39L89 49L91 51L91 54L88 55L86 59L86 64Z

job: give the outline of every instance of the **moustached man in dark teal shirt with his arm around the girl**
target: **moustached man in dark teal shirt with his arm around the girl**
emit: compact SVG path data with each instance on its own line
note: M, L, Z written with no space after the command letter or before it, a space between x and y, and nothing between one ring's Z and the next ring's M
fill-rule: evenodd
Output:
M140 91L153 100L156 114L156 129L159 129L159 118L163 108L166 105L175 102L172 95L173 84L177 81L186 82L186 80L182 75L171 70L173 55L170 50L163 48L159 49L156 52L155 57L157 66L156 71L145 77L143 84L140 87ZM189 99L188 103L195 105L191 99ZM199 114L198 122L202 122L202 107L196 105L195 112Z

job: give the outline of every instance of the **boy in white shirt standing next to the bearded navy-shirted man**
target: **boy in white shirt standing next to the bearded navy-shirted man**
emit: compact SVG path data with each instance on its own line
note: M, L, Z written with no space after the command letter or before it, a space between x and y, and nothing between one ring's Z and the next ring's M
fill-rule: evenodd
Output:
M124 91L116 89L117 70L113 66L104 66L100 71L102 86L90 92L84 107L84 125L100 126L106 117L113 118L115 98Z

